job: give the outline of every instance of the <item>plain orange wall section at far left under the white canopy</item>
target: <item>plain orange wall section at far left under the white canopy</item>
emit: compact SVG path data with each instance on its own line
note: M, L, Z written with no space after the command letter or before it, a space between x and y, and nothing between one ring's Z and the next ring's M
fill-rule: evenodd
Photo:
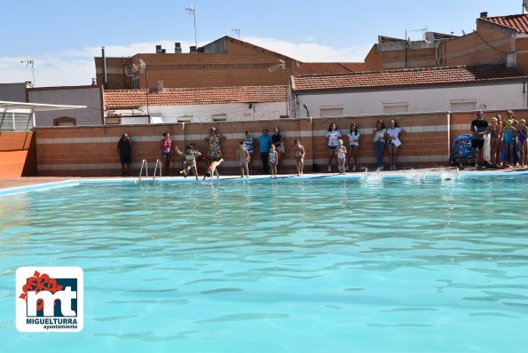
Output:
M0 132L0 177L36 176L33 132Z

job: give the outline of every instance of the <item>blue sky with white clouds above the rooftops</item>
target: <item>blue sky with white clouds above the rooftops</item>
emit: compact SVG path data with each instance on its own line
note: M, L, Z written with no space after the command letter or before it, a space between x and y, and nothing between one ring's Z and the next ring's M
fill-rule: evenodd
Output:
M523 12L523 0L24 0L2 4L0 83L91 84L94 57L184 52L225 35L303 62L363 61L378 35L461 35L480 12ZM194 16L186 9L193 5ZM237 32L235 29L238 29ZM33 61L33 67L28 64Z

